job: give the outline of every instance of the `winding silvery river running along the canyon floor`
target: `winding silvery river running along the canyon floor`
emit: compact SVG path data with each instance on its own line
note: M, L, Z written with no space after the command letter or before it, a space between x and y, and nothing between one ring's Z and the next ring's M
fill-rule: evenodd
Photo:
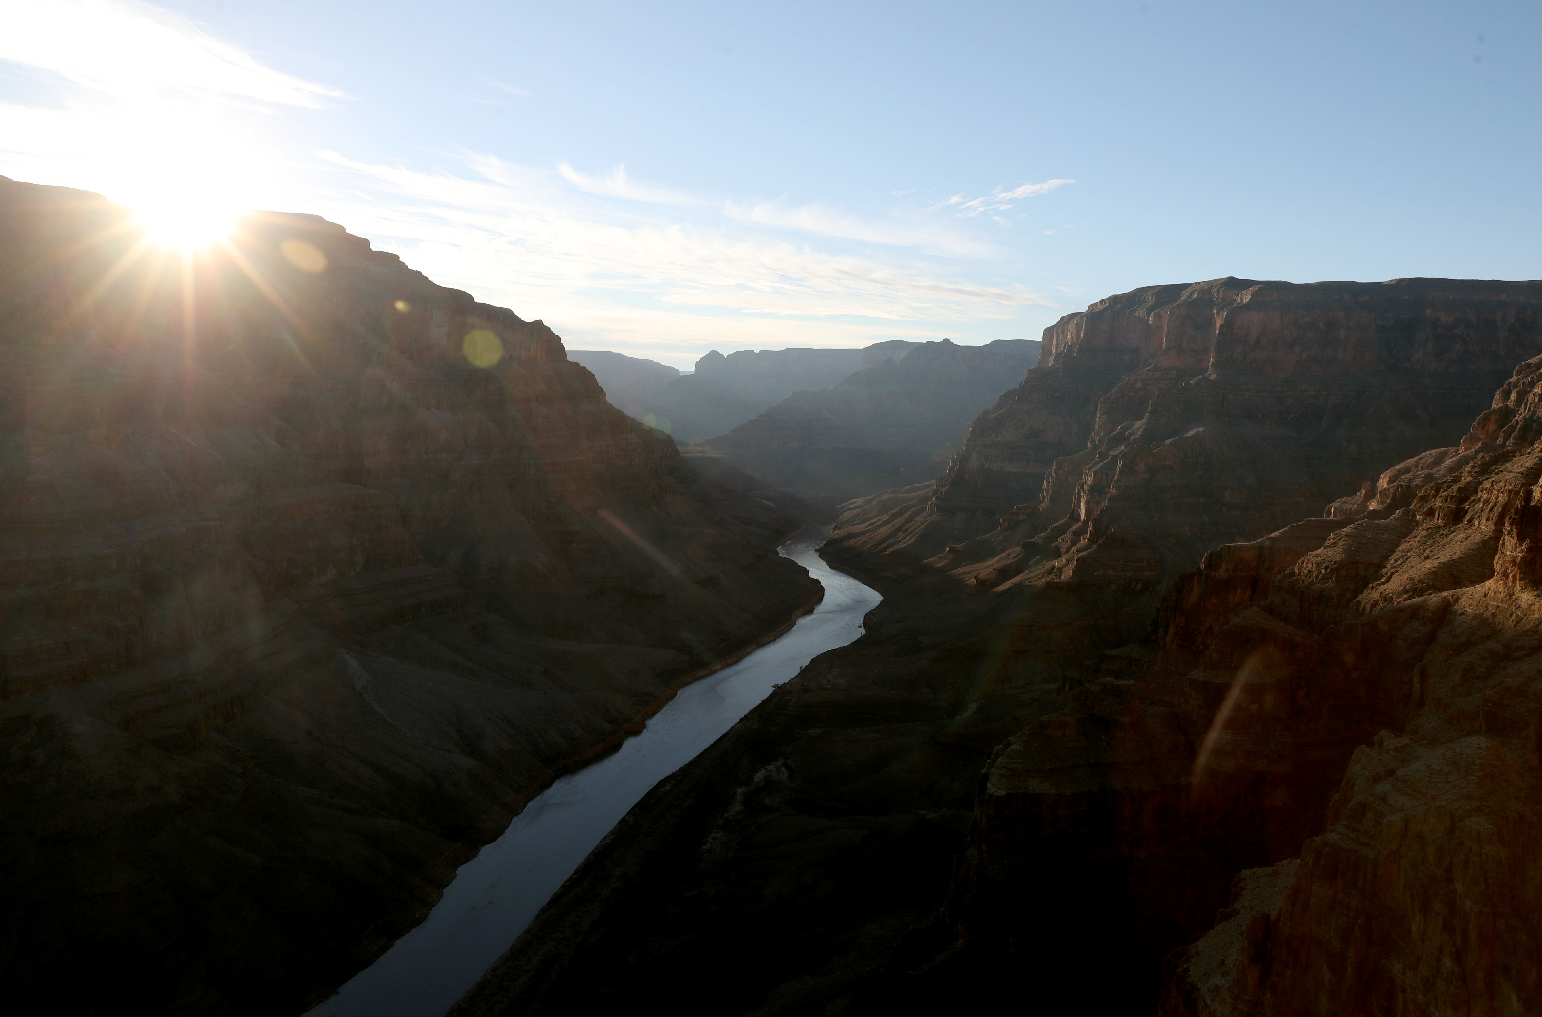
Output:
M877 591L819 557L822 537L782 545L825 599L780 639L686 685L611 756L558 778L455 873L416 929L307 1017L443 1017L524 931L628 809L717 741L825 650L862 634Z

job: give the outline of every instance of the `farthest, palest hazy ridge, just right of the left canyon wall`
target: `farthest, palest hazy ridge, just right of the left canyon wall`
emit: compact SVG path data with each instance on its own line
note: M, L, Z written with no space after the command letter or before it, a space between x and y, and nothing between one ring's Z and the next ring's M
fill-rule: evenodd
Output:
M717 350L695 372L668 384L645 404L655 426L686 444L732 431L760 411L803 389L825 389L880 358L904 356L904 340L860 349Z

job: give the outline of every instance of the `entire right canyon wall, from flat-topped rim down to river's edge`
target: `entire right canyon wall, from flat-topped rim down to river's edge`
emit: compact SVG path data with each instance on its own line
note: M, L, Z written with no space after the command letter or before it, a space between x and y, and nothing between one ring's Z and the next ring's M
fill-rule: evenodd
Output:
M1539 282L1062 318L452 1012L1536 1012L1539 353Z

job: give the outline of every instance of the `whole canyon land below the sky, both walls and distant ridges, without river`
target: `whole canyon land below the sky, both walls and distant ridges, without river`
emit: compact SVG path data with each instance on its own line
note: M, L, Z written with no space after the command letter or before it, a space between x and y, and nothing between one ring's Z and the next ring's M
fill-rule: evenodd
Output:
M0 340L12 1008L321 1003L808 616L839 514L862 636L452 1014L1539 1012L1542 282L680 377L315 216L183 252L0 177Z

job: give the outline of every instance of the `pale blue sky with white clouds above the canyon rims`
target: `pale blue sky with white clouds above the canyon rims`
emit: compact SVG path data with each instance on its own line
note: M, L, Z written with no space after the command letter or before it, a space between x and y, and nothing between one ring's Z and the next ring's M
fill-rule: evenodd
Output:
M0 0L0 174L316 211L569 347L1539 278L1537 3Z

